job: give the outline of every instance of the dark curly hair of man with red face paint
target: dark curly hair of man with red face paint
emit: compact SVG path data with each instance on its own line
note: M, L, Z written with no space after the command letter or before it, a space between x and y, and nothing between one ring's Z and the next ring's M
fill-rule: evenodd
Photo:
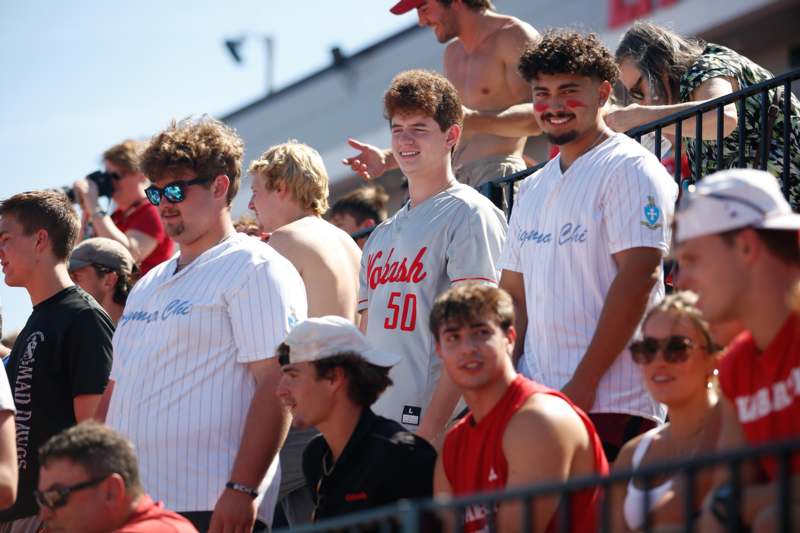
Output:
M528 83L540 74L577 74L611 85L619 78L614 56L596 33L567 30L548 31L529 45L520 57L519 72Z

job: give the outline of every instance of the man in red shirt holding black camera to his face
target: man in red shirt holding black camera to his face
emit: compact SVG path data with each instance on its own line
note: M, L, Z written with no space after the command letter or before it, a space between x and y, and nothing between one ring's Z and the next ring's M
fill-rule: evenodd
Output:
M91 222L95 236L122 243L133 255L142 274L172 257L169 238L158 209L147 201L144 190L149 180L139 170L142 144L127 140L103 153L106 172L112 173L116 210L110 215L98 203L97 185L87 179L75 182L81 200L84 223Z

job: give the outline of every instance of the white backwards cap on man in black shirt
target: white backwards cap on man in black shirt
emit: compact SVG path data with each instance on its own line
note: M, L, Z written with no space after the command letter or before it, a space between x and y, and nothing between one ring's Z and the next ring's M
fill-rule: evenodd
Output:
M390 367L400 362L400 356L374 348L367 337L352 322L340 316L309 318L292 329L286 340L288 361L281 364L319 361L345 352L360 355L376 366Z

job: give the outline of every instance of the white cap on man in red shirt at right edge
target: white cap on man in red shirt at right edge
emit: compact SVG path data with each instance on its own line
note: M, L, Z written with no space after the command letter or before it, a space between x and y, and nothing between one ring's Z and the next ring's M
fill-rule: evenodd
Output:
M675 212L675 242L739 228L800 230L778 180L763 170L715 172L686 191Z

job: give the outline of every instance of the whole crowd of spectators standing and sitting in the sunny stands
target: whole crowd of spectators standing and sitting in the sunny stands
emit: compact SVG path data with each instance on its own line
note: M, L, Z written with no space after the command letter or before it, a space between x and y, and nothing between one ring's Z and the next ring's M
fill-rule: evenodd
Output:
M770 95L793 115L770 115L774 132L792 127L789 146L772 136L767 171L712 174L704 137L689 151L703 173L679 199L622 132L770 73L650 23L614 55L488 0L392 12L412 9L448 43L445 73L395 76L391 148L350 139L344 161L368 179L402 172L394 214L374 184L329 209L322 158L290 140L251 162L255 217L234 223L244 146L207 116L107 150L110 190L74 185L82 216L54 191L0 202L4 281L33 304L0 373L0 533L269 531L800 435L794 96ZM608 105L618 83L635 103ZM722 117L727 168L738 114ZM760 118L744 117L755 166ZM473 186L524 168L529 135L558 154L507 221ZM515 531L530 505L537 531L562 512L593 531L605 499L619 531L771 531L800 453L788 468L747 463L739 488L727 469L700 472L691 509L673 473L582 489L565 511L549 495L425 527Z

